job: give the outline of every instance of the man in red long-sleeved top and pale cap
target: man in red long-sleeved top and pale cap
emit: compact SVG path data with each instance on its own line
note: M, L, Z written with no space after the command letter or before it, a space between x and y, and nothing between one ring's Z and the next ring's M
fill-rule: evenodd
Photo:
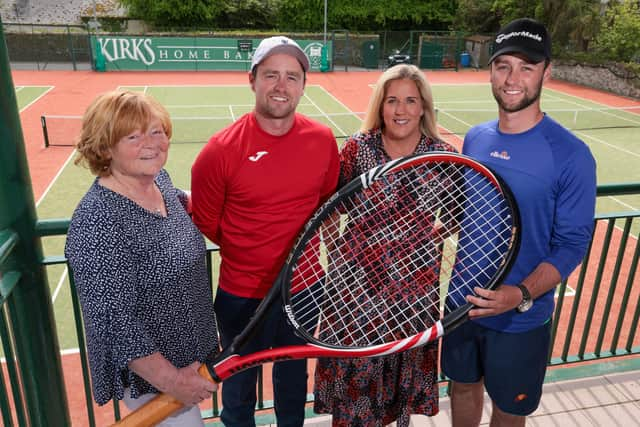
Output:
M309 59L293 40L271 37L256 49L249 83L255 108L211 137L191 170L193 220L220 246L215 311L222 346L244 329L274 283L298 232L335 190L339 158L331 130L301 114ZM273 310L244 353L301 343ZM255 426L257 368L227 379L226 426ZM306 361L273 368L279 426L301 426Z

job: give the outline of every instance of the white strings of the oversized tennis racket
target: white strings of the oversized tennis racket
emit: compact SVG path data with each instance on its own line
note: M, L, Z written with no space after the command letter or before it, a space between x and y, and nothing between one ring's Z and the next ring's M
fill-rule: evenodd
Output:
M340 199L316 228L296 260L291 309L309 335L334 346L420 333L495 275L509 212L495 184L462 164L393 170Z

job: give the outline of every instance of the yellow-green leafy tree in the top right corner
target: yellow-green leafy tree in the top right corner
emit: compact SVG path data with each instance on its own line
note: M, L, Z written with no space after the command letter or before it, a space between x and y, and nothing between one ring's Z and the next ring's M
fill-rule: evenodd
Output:
M640 7L636 1L609 5L602 29L595 41L605 59L631 62L640 60Z

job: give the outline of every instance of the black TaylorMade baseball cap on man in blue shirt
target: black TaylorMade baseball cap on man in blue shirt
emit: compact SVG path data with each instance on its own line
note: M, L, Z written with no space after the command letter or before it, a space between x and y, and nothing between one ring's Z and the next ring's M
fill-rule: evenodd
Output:
M496 34L489 64L498 56L508 53L521 53L533 63L551 60L549 32L534 19L520 18L511 21Z

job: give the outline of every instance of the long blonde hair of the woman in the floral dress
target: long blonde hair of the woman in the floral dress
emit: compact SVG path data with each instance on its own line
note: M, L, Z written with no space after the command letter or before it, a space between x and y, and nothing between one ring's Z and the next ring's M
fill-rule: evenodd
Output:
M422 120L420 120L420 132L432 138L442 139L436 123L436 112L433 105L431 86L424 76L424 73L418 67L411 64L395 65L382 73L373 90L373 95L371 99L369 99L369 107L362 121L360 131L368 132L371 129L384 129L382 104L384 103L387 89L392 81L402 79L412 80L416 84L418 92L420 92L422 108L424 110L424 115L422 116Z

